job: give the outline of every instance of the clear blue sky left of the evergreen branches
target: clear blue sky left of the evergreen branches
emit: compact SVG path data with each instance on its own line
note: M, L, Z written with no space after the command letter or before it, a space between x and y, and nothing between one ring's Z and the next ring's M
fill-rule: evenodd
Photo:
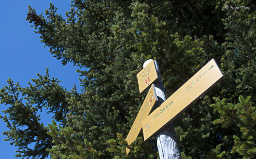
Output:
M79 89L79 69L68 64L62 66L60 61L52 57L49 49L44 48L39 35L34 33L34 28L26 21L28 5L36 9L37 13L44 15L44 10L52 2L58 8L58 14L65 16L65 12L71 8L71 0L2 0L0 5L0 88L7 84L11 78L14 83L19 82L22 87L28 86L30 79L37 78L36 74L45 74L45 68L49 68L50 77L61 80L60 85L71 90L73 84ZM8 106L0 105L0 111ZM4 113L0 112L0 115ZM42 115L44 124L51 123L51 118L46 113ZM1 132L8 131L6 124L0 119L0 158L15 158L15 146L3 141L6 136ZM50 159L48 157L48 159Z

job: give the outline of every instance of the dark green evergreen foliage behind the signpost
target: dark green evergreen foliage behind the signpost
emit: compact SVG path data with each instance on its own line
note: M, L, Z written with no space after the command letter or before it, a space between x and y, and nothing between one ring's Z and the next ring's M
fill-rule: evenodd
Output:
M3 132L6 140L18 147L17 157L157 158L155 137L148 142L138 137L131 146L125 141L145 97L136 74L144 61L155 59L169 97L214 58L224 80L174 120L182 157L256 158L254 0L71 3L66 19L50 4L45 15L29 6L27 20L63 65L88 68L77 70L82 93L63 89L48 69L26 88L7 80L0 103L9 107L0 118L10 129ZM47 126L37 115L43 107L54 114Z

